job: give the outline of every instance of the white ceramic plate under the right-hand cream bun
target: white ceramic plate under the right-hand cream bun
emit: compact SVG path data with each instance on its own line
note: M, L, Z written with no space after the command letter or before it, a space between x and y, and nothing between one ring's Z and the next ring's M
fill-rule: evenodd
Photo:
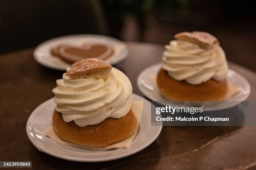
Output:
M159 103L161 104L168 102L169 105L172 105L172 101L166 100L159 94L158 87L156 87L155 83L152 80L152 77L156 77L156 75L158 74L161 65L162 63L158 63L144 69L138 75L137 85L143 95L148 97L150 100L159 101ZM218 102L218 104L214 106L204 106L205 111L222 110L233 107L239 104L241 101L246 100L246 98L250 95L251 86L249 82L242 75L238 74L234 70L228 70L227 81L229 84L235 85L236 87L242 87L243 91L232 96L228 101ZM177 102L175 102L174 105L176 106Z

